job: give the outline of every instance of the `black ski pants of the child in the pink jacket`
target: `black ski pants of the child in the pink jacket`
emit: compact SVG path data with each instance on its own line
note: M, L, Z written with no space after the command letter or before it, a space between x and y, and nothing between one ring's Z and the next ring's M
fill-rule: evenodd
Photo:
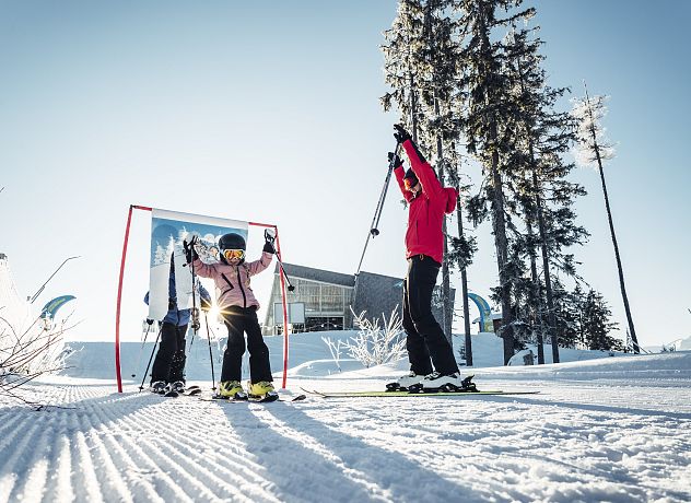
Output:
M227 347L223 353L221 381L241 381L243 354L245 354L245 332L249 350L249 378L253 383L273 381L267 348L261 327L257 319L257 307L230 307L223 314L227 327Z

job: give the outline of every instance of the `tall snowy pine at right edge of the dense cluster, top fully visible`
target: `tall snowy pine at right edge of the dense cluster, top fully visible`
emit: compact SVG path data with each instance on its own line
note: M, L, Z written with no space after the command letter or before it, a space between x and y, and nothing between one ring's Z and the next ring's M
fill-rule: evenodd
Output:
M515 82L515 116L512 117L515 127L508 138L514 143L512 164L522 174L515 177L516 185L510 187L517 190L517 209L523 212L526 224L526 235L517 242L526 247L530 261L531 281L525 285L526 297L534 307L530 321L537 329L538 362L544 363L542 331L549 336L552 361L559 362L551 270L575 274L573 256L566 255L564 248L582 244L587 232L576 225L572 209L575 198L585 191L565 179L574 165L565 163L562 156L575 141L573 118L555 110L557 101L567 89L547 85L544 57L539 52L542 42L535 35L536 31L514 26L507 37L511 43L506 44L510 51L504 67ZM538 274L538 249L543 282Z

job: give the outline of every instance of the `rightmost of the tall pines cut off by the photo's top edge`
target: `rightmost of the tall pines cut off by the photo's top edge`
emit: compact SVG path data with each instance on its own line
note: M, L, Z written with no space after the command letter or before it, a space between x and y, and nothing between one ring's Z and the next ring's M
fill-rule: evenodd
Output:
M515 312L512 305L512 284L517 280L516 268L511 264L510 237L507 235L505 179L515 176L513 166L506 161L511 145L502 128L511 121L513 110L512 86L514 83L505 74L503 60L511 51L506 40L497 39L501 30L507 30L517 20L534 15L534 9L518 9L522 0L457 0L461 12L460 33L464 36L459 58L462 71L460 84L464 89L466 110L461 120L468 142L468 152L480 162L483 183L480 194L469 204L471 219L479 223L491 207L492 229L499 268L496 291L502 309L504 339L504 364L514 354ZM507 12L507 17L497 19L496 12Z

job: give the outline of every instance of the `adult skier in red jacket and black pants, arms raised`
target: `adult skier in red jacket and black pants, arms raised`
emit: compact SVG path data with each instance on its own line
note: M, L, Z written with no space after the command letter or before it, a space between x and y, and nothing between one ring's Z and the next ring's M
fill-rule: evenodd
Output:
M456 208L458 194L450 187L442 187L432 166L424 160L410 134L395 126L394 134L402 144L411 168L405 172L402 161L395 160L395 175L406 201L408 201L408 230L406 231L406 258L408 273L403 281L403 329L410 360L410 374L389 389L424 389L461 387L454 350L444 330L432 314L432 292L444 256L443 223L445 214ZM389 153L389 162L394 154ZM448 386L445 386L448 385Z

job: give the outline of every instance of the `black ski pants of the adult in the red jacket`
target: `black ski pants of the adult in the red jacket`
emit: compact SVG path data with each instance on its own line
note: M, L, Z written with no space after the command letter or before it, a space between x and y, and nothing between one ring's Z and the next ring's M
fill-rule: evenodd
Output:
M406 349L410 370L418 375L430 374L433 370L444 375L458 372L454 350L432 314L432 292L440 267L426 255L408 259L403 281L403 329L408 335Z

